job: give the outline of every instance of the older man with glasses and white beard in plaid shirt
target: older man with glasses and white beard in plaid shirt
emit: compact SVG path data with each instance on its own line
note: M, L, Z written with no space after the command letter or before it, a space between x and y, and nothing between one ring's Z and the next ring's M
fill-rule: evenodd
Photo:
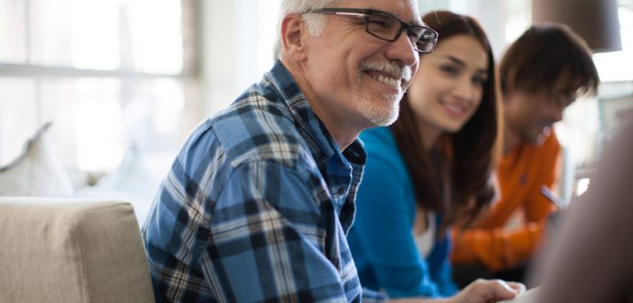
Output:
M286 0L278 61L179 152L143 227L157 301L335 301L362 293L344 234L365 153L436 32L412 0ZM511 298L480 281L461 298Z

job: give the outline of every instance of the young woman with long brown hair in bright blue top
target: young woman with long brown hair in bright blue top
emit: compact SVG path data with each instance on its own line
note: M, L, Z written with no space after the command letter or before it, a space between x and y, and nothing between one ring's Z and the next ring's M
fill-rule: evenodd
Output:
M439 41L420 58L398 121L361 134L368 159L348 234L362 286L391 298L454 295L447 228L472 221L495 194L500 102L489 41L468 16L423 21Z

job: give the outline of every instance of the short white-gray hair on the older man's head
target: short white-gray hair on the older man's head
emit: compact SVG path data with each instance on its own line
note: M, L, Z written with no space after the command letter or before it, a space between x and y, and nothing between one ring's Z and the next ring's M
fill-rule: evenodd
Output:
M287 14L303 14L307 11L332 6L338 0L283 0L281 1L280 21L277 24L277 41L275 42L274 59L279 59L281 54L281 20ZM318 36L326 27L324 14L306 14L302 16L307 24L307 32Z

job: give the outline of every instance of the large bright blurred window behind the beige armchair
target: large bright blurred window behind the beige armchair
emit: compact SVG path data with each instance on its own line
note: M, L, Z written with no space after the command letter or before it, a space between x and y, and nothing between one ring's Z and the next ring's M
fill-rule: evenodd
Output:
M197 123L193 0L0 0L0 165L45 122L70 168L112 170Z

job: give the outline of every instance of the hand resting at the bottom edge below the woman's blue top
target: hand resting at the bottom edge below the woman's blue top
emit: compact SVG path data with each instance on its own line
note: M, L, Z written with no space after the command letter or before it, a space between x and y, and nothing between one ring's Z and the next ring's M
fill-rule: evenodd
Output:
M452 298L454 303L487 303L516 297L525 285L503 280L475 280Z

